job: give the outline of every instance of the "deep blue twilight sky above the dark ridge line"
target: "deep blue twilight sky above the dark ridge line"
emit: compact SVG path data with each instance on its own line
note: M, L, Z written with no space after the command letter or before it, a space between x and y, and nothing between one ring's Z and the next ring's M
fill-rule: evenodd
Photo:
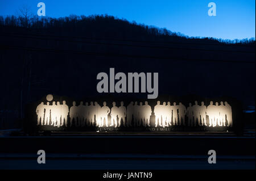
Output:
M23 4L36 14L39 2L46 4L46 15L55 18L109 14L188 36L255 38L255 0L0 0L0 15L16 15ZM217 16L208 16L209 2L216 3Z

